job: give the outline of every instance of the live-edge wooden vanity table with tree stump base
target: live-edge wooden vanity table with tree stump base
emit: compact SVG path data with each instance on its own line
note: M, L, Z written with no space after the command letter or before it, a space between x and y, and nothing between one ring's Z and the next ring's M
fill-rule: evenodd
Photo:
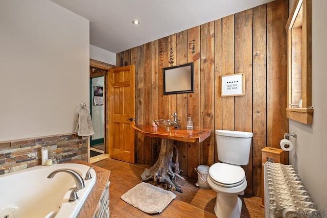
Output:
M159 181L164 182L167 188L183 192L181 186L177 183L177 178L184 180L179 175L178 160L173 162L173 153L177 148L174 145L174 140L185 142L202 142L210 136L211 130L208 129L171 129L166 131L159 127L152 127L151 125L132 125L132 128L142 133L145 136L162 138L160 153L157 162L150 168L145 169L141 175L142 181ZM174 171L173 171L173 167Z

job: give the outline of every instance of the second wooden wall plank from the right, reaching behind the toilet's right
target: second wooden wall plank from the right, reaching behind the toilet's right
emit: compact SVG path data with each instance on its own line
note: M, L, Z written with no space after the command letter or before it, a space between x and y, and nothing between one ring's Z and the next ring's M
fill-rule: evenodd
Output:
M253 9L253 90L259 90L253 92L253 130L256 134L253 134L252 146L253 160L253 195L261 196L262 179L255 175L261 175L262 162L261 162L261 150L266 147L267 144L267 106L262 104L267 101L267 43L266 43L266 5L262 5Z

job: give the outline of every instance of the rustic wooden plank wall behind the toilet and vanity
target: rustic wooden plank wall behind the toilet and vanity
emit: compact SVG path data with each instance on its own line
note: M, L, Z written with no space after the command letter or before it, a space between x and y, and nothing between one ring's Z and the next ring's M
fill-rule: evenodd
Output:
M246 192L261 196L261 149L278 148L288 132L287 19L288 1L276 0L116 55L116 66L135 64L138 124L176 111L182 128L191 116L194 128L212 129L204 142L177 143L183 175L196 177L198 165L218 161L215 129L253 132ZM188 62L194 63L194 93L164 95L162 68ZM241 72L245 95L222 97L220 77ZM136 135L136 161L153 164L160 140Z

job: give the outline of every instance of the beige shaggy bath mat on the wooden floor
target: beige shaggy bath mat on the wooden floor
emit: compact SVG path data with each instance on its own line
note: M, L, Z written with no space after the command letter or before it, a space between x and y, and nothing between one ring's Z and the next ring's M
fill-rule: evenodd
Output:
M176 195L146 182L129 189L121 199L146 213L160 213Z

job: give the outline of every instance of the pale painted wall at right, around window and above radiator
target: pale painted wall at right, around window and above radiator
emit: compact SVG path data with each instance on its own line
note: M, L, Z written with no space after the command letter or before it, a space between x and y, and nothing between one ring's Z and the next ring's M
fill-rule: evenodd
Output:
M290 120L290 132L297 133L290 164L298 171L320 211L327 213L327 1L312 1L312 102L313 124Z

